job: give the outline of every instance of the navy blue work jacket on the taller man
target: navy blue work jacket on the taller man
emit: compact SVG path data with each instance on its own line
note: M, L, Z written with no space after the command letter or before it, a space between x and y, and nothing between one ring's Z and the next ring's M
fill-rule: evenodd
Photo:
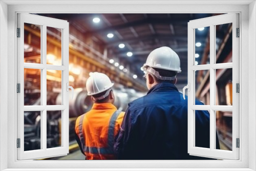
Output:
M196 146L209 148L209 129L208 111L196 111ZM187 153L187 97L167 82L129 103L114 150L121 160L207 159Z

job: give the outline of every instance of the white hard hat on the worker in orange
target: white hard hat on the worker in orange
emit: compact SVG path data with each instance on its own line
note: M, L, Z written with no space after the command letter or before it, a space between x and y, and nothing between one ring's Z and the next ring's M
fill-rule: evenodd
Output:
M107 75L98 72L90 73L90 77L86 81L87 95L92 96L102 93L112 88L113 85L114 83L111 82Z

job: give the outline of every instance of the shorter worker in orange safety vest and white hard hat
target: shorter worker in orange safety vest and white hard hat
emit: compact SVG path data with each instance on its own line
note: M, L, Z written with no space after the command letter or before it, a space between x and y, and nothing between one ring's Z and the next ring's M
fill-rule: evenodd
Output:
M116 159L114 139L118 134L124 112L113 105L114 83L103 73L90 74L86 89L94 102L92 109L76 119L76 140L87 160Z

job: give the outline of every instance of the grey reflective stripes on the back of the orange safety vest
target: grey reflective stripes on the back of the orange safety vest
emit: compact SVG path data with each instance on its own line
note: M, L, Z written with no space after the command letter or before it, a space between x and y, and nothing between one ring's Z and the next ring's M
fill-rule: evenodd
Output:
M109 131L108 131L108 144L106 147L88 147L86 146L86 141L84 140L83 131L82 131L82 123L85 115L82 115L79 120L79 137L82 144L82 149L84 153L98 154L98 155L106 155L106 154L114 154L114 138L115 138L115 124L116 119L118 118L121 111L116 111L110 119L109 123Z

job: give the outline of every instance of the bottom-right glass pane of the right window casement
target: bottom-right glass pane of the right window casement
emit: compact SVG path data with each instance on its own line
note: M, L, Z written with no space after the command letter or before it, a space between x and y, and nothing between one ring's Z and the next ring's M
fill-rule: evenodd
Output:
M232 112L216 111L216 131L220 149L232 151Z

